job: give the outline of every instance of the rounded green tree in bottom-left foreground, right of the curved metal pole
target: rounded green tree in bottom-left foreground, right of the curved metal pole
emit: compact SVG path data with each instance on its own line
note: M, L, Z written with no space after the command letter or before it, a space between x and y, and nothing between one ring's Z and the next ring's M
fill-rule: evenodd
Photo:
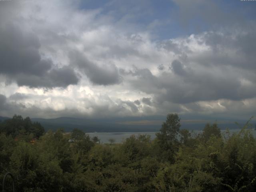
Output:
M10 172L17 178L16 190L25 192L61 191L62 169L59 161L36 145L19 142L10 157Z

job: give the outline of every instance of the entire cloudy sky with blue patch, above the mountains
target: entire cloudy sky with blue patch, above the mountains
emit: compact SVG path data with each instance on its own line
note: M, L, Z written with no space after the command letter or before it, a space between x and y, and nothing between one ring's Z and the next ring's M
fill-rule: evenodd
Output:
M0 116L256 114L256 1L0 1Z

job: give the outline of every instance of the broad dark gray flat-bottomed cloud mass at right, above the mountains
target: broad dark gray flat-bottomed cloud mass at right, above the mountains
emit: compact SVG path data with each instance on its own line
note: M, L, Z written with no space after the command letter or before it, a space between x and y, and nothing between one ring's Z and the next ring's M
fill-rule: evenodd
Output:
M218 99L242 100L254 98L256 95L256 85L244 84L244 75L240 74L240 70L224 66L184 68L180 61L174 60L172 71L174 73L163 72L155 76L148 69L137 69L132 73L136 79L131 83L134 88L153 94L157 103L168 101L184 104Z

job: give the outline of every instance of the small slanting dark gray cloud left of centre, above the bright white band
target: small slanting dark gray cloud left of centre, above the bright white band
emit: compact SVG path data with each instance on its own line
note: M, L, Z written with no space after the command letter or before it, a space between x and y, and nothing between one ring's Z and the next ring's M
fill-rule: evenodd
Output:
M118 68L114 64L98 66L78 51L70 52L70 62L82 70L94 84L111 85L121 82Z

